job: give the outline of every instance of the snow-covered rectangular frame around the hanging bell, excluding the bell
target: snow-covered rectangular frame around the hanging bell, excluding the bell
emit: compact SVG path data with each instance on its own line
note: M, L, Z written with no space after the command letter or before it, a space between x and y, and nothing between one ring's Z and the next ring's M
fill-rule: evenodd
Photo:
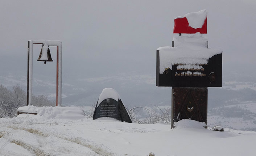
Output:
M62 42L60 40L29 40L28 41L27 105L32 105L33 44L44 45L46 42L48 43L48 46L57 47L56 106L61 106Z

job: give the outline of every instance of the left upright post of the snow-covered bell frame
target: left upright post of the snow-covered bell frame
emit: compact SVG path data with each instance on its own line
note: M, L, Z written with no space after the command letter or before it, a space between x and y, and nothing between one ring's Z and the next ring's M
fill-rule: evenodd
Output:
M27 105L32 105L33 41L28 41Z

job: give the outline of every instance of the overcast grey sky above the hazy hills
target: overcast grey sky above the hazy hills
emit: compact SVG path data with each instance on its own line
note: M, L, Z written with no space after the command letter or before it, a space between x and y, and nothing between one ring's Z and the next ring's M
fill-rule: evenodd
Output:
M254 0L0 2L0 75L26 76L30 39L58 39L63 83L120 73L155 76L156 49L171 46L178 35L172 33L174 18L202 9L208 10L203 37L209 48L223 50L223 76L230 71L254 74ZM54 81L56 62L37 62L40 49L33 49L33 76ZM54 61L55 52L51 47Z

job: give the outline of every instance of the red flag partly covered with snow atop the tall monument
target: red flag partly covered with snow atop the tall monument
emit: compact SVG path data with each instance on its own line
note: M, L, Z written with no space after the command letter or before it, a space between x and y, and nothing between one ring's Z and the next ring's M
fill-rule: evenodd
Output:
M173 33L177 34L207 34L207 10L193 12L174 19Z

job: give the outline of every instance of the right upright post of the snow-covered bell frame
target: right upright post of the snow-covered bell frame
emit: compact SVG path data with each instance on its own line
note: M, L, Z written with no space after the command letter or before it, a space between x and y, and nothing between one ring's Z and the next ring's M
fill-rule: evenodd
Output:
M57 89L58 89L58 97L57 97L57 99L58 99L58 106L61 106L61 79L62 79L62 75L61 75L61 72L62 72L62 42L59 42L59 45L57 46L57 52L58 52L58 71L57 71L57 73L58 73L58 77L57 77L57 79L58 79L58 87L57 87Z

